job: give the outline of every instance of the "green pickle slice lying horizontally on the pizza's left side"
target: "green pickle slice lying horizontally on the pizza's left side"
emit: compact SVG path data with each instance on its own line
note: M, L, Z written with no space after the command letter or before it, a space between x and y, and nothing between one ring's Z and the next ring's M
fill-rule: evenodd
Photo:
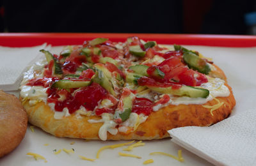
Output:
M70 89L89 86L91 81L74 81L74 80L58 80L52 84L52 87L60 87L61 89Z

